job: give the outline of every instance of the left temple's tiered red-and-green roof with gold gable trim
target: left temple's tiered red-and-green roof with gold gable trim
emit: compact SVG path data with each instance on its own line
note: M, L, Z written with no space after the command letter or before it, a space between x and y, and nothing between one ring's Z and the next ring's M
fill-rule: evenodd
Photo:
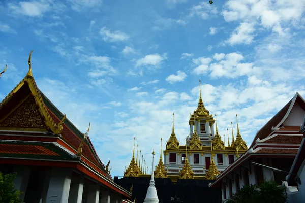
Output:
M1 161L9 163L16 162L15 158L26 158L18 161L77 167L130 196L112 181L87 134L80 132L39 90L32 74L31 55L32 52L26 76L0 103Z

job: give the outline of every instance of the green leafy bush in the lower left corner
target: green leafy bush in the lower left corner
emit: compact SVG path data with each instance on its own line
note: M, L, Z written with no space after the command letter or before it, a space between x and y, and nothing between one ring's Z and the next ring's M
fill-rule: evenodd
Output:
M23 203L20 190L14 188L17 173L3 174L0 172L0 203Z

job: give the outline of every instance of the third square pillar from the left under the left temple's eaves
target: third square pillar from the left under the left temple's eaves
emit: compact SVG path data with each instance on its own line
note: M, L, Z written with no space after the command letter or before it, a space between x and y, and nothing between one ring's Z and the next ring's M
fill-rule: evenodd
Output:
M84 176L72 176L68 203L81 203L84 188Z

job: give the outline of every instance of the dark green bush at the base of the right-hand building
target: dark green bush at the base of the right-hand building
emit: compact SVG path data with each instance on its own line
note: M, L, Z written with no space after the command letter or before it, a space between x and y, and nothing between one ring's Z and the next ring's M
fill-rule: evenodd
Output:
M286 203L286 188L279 186L273 179L263 181L259 186L244 186L236 192L226 203Z

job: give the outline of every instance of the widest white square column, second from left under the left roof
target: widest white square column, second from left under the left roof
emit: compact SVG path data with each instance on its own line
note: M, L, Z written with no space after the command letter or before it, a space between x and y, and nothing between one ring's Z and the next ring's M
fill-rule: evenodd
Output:
M71 176L70 168L52 168L47 203L68 203Z

